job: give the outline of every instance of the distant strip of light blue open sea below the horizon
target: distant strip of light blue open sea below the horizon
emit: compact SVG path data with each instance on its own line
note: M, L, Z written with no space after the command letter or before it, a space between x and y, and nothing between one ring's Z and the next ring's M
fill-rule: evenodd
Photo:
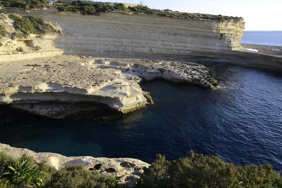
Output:
M240 43L282 46L282 31L244 31Z

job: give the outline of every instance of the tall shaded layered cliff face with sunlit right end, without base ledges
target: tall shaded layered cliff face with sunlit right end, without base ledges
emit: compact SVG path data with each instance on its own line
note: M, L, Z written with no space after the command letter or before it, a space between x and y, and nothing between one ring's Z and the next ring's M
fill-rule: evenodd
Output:
M54 47L72 55L189 56L191 52L236 50L243 36L243 20L178 19L150 15L101 13L84 16L58 13L56 9L23 10L9 8L24 16L55 22L63 34Z

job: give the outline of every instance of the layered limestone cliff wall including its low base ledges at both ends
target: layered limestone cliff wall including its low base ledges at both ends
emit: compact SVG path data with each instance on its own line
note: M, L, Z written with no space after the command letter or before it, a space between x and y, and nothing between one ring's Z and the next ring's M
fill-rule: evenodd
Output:
M2 10L43 18L60 27L62 34L43 35L51 45L36 52L7 53L0 47L0 62L61 54L121 58L173 57L282 70L280 56L246 51L239 43L243 37L243 18L217 21L128 12L82 15L58 12L56 8L30 9L26 12L21 8Z

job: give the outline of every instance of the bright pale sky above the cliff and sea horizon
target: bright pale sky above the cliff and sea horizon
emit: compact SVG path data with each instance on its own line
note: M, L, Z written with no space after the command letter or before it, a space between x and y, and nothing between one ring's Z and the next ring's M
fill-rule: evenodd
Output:
M101 0L97 0L101 1ZM281 31L282 0L119 0L188 13L243 17L245 31ZM109 0L102 2L109 2ZM111 1L112 2L112 1Z

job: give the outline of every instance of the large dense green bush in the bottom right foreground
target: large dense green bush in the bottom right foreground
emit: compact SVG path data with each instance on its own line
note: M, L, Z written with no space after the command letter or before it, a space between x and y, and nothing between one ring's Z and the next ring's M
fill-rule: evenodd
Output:
M183 159L169 162L157 155L144 169L140 188L281 188L282 178L271 165L234 166L217 156L190 151Z

